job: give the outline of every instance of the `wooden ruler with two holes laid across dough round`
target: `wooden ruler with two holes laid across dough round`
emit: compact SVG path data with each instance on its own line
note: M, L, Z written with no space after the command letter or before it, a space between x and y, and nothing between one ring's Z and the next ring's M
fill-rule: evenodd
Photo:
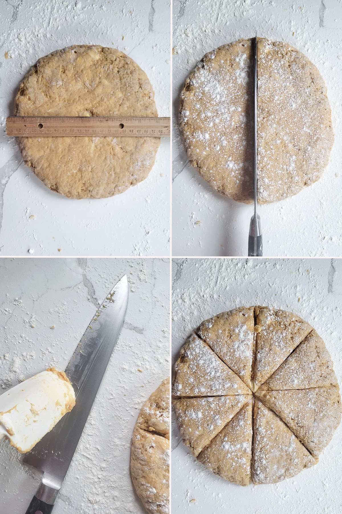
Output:
M136 116L10 116L8 136L168 137L170 118Z

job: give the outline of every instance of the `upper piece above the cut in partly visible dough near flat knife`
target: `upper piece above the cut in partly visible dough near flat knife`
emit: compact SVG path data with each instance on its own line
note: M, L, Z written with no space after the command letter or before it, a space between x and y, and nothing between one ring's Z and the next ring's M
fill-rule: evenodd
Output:
M144 403L136 425L170 438L170 378L166 378Z

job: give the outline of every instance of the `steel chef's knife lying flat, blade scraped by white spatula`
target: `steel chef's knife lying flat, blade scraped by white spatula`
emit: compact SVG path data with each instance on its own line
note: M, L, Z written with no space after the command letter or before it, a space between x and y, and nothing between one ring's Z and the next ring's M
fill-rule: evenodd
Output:
M44 472L26 514L49 514L53 509L124 323L127 303L125 275L97 309L65 370L75 391L75 407L25 455L26 464Z

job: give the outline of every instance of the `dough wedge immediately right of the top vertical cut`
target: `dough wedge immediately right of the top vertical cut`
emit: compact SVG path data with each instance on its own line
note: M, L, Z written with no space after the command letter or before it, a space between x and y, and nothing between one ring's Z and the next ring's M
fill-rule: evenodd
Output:
M254 391L266 382L312 331L309 323L285 310L255 307L255 313L258 314L254 328L257 332Z

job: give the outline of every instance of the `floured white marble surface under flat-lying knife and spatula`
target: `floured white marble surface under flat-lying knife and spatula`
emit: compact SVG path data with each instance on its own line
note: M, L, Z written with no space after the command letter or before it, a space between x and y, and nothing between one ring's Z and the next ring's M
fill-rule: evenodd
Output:
M124 327L54 514L145 512L129 473L130 439L169 374L169 271L167 259L0 259L0 393L47 366L65 369L98 302L124 273L129 280ZM24 514L38 486L30 469L1 440L0 512Z

